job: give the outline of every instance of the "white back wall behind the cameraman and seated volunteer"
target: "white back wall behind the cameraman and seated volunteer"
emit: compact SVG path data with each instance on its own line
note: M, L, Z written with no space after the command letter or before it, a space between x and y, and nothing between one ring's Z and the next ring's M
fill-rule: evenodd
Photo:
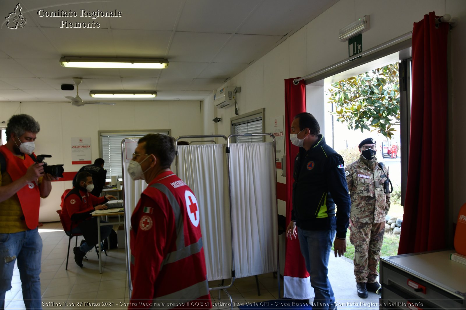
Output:
M25 113L41 125L37 134L36 154L49 154L50 165L64 164L65 171L78 171L82 165L71 165L71 137L90 137L92 161L99 157L99 130L171 129L171 135L203 133L199 101L118 102L115 106L72 106L44 102L0 102L0 122L13 114ZM0 125L7 125L0 124ZM58 221L62 193L71 181L52 183L52 192L41 199L39 221Z

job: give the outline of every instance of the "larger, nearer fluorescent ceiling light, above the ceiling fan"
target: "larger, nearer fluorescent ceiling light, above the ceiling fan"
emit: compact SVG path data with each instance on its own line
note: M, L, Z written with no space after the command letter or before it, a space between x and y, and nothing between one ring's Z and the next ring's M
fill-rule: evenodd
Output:
M163 58L62 57L60 65L69 68L164 69L168 66L168 60Z

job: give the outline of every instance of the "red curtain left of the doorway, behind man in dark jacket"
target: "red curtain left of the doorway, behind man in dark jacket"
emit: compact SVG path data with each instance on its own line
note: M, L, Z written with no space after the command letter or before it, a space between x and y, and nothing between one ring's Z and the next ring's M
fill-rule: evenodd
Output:
M298 85L293 84L294 79L285 79L285 145L286 145L286 224L288 225L291 219L292 209L292 192L293 192L293 169L295 163L295 156L299 151L299 148L291 144L288 139L290 134L291 122L296 114L306 112L306 88L304 80L301 80ZM299 248L298 239L286 241L286 257L285 257L285 277L293 278L307 278L309 274L306 270L304 258L302 257L301 250ZM289 278L288 278L289 279ZM302 296L305 292L310 290L310 282L307 281L290 281L287 283L287 278L284 280L285 295L284 297L305 299L309 298ZM297 287L299 285L307 285L308 288ZM288 291L288 294L287 294ZM295 295L290 295L295 294Z

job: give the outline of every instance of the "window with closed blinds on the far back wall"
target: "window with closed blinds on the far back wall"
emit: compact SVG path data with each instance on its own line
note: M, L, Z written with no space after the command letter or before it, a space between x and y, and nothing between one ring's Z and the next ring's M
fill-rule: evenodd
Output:
M151 132L118 132L118 133L105 133L100 132L101 140L101 158L105 160L103 169L107 170L107 178L110 181L111 176L118 176L121 178L123 173L121 170L121 142L125 138L142 138L147 133L162 133L169 134L169 131L151 131Z

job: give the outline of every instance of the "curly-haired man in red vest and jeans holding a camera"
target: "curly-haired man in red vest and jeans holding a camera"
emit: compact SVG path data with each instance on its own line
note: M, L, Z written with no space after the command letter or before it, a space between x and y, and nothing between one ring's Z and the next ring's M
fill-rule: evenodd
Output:
M34 141L39 123L30 115L13 115L7 124L7 144L0 146L0 309L11 289L15 260L27 309L41 309L42 239L37 230L40 198L52 189L43 163L35 163Z

